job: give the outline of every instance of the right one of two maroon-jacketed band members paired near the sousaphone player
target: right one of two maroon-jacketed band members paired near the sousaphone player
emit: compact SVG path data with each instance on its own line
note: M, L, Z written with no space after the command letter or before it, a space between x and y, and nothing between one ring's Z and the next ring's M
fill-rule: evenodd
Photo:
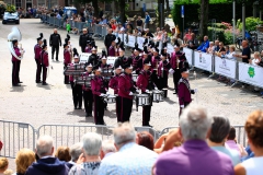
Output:
M44 44L42 46L42 52L41 52L41 63L42 63L42 69L43 69L43 74L42 74L42 85L48 85L46 83L46 77L47 77L47 68L49 66L48 61L48 52L47 52L47 44L46 39L44 39Z

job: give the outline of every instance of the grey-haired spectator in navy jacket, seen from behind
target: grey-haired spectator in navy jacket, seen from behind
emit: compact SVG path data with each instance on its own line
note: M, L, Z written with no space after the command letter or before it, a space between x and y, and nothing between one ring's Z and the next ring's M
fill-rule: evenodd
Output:
M65 162L60 162L53 156L54 147L50 136L42 136L36 142L36 154L39 160L33 163L26 171L25 175L68 175L68 167Z

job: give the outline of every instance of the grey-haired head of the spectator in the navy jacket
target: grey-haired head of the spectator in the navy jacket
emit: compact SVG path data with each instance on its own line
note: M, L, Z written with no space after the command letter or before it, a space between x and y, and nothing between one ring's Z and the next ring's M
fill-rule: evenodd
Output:
M41 136L36 141L36 153L39 158L52 155L53 152L53 138L50 136Z

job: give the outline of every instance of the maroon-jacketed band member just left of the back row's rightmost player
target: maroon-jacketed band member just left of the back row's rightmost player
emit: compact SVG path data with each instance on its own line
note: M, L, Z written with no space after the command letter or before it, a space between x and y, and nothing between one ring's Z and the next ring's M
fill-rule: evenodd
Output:
M158 67L159 90L168 88L168 74L171 69L170 62L167 60L167 54L161 56L161 61Z

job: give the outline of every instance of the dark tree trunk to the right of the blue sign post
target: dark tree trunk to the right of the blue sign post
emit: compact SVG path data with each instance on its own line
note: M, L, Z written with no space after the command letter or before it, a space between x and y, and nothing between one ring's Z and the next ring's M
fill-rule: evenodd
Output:
M203 39L203 37L207 35L208 5L209 5L209 0L201 0L199 39Z

